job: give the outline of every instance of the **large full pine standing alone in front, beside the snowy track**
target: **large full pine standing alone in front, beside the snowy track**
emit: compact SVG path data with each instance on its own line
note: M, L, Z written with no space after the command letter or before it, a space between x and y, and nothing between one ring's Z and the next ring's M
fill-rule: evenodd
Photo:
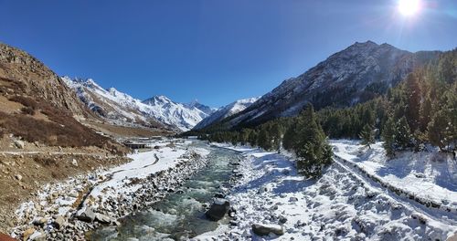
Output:
M297 169L310 178L319 177L324 167L332 162L333 153L317 122L313 105L308 104L300 114L297 130Z

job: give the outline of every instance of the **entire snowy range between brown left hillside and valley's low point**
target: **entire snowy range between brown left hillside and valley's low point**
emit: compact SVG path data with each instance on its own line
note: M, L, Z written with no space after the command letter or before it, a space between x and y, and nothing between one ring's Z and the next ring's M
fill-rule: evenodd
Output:
M176 103L165 96L137 100L117 89L103 89L93 79L63 77L79 99L106 121L117 125L142 125L188 131L209 115L207 106ZM201 107L202 110L197 107Z

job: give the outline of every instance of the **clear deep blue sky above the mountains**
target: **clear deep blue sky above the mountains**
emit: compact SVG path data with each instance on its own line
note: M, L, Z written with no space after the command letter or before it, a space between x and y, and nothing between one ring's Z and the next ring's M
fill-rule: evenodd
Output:
M410 51L457 47L457 1L0 0L0 41L58 75L138 99L218 107L260 96L356 41Z

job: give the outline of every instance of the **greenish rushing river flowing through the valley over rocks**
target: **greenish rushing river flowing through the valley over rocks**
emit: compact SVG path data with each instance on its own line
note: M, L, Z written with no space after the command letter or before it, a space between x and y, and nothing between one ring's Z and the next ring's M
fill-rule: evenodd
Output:
M202 147L203 143L197 143ZM149 209L128 215L118 227L104 227L96 230L92 240L186 240L190 237L212 231L217 222L205 217L204 204L210 204L221 186L228 186L239 153L222 148L210 149L208 165L187 180L179 191L168 194L164 200ZM219 221L223 222L223 221Z

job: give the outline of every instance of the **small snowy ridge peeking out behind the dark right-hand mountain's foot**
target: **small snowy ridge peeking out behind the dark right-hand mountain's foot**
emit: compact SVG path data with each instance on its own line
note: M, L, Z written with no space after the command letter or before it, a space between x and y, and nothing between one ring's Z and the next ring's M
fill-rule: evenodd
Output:
M237 114L240 111L245 110L246 108L250 107L250 105L257 100L259 100L259 97L237 100L235 102L232 102L232 103L228 104L227 106L222 107L218 111L214 112L213 114L211 114L210 116L205 118L203 121L200 121L194 127L194 130L199 130L199 129L205 128L206 126L208 126L214 122L222 121L234 114Z

